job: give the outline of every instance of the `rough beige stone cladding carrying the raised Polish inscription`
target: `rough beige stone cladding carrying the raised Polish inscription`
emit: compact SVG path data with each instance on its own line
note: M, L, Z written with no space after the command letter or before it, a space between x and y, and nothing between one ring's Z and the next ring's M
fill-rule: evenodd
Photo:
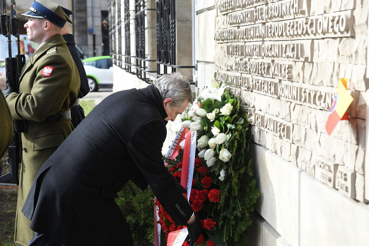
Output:
M367 203L368 1L218 0L215 11L215 78L242 97L253 141ZM328 135L342 77L350 118Z

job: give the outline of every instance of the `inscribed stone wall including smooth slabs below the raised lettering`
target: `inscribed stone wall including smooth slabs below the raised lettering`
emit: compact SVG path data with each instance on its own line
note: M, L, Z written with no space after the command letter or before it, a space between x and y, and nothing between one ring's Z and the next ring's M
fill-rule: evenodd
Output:
M257 144L261 197L251 245L369 245L368 1L217 0L215 6L215 78L227 79L242 97ZM354 98L350 118L328 135L342 77ZM364 227L348 228L356 223Z

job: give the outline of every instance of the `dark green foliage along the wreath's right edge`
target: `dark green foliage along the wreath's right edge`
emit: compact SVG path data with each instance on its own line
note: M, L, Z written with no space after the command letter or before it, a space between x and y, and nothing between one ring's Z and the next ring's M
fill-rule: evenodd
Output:
M245 232L251 226L251 214L259 197L256 179L253 177L250 154L250 124L240 103L235 97L237 116L237 134L231 139L232 156L228 175L220 184L219 229L223 231L223 240L227 246L246 246Z

